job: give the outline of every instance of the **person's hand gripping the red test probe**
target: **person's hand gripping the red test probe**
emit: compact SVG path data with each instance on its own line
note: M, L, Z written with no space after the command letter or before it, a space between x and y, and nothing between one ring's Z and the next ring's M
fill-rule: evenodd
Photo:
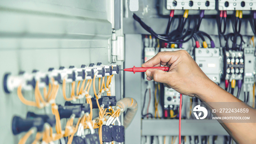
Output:
M148 69L147 80L164 83L168 88L188 96L199 95L200 91L213 83L185 50L159 52L142 64L142 67L170 67L169 72L159 69Z

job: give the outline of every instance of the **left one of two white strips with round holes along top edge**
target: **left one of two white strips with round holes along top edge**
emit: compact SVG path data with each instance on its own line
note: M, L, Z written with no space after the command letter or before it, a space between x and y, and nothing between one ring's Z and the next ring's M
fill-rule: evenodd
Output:
M166 0L167 10L215 10L215 0Z

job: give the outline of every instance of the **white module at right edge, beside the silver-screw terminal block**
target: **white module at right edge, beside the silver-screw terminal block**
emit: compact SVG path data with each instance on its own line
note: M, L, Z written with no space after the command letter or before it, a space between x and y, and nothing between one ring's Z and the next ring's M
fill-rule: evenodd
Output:
M253 84L255 70L255 48L244 48L244 84Z

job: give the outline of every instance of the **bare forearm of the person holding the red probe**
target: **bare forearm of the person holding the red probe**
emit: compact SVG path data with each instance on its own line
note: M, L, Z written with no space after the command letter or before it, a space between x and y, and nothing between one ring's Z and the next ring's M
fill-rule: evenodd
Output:
M242 109L249 109L250 119L256 118L256 111L252 107L242 103L240 99L237 99L235 96L231 95L229 92L223 90L217 84L209 81L206 82L206 88L199 89L196 96L202 101L206 102L211 109L219 109L218 105L214 105L214 102L241 102L239 107ZM231 103L232 105L232 103ZM234 103L235 105L235 103ZM236 106L233 106L233 108ZM226 113L216 113L215 116L221 117L226 116ZM223 128L233 137L236 143L255 143L256 137L256 123L221 123Z

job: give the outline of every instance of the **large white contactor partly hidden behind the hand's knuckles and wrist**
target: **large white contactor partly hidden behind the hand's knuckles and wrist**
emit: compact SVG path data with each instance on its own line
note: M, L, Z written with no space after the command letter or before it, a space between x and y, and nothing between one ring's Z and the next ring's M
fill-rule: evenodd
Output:
M221 82L223 58L219 48L196 48L195 61L213 82Z

